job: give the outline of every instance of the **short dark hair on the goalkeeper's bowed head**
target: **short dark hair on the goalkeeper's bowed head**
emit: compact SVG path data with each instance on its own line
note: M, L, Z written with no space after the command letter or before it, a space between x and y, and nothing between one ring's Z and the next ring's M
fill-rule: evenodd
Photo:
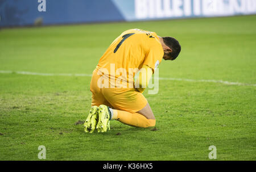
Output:
M166 44L169 48L172 49L171 53L168 53L169 56L172 57L171 60L175 60L181 51L180 43L174 37L163 37L164 44Z

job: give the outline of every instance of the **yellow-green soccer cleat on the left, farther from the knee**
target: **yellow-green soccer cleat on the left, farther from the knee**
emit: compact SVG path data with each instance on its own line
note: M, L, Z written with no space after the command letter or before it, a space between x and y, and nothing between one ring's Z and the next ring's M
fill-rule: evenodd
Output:
M86 133L92 133L98 122L98 107L92 106L90 112L84 122L84 131Z

